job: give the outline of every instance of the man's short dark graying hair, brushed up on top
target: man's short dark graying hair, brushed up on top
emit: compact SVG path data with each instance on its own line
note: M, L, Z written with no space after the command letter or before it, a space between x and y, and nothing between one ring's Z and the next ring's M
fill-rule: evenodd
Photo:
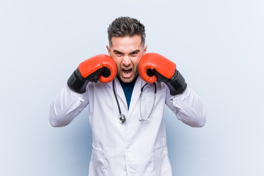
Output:
M132 37L139 35L141 37L141 45L145 45L145 26L137 19L130 17L118 17L108 27L109 45L112 45L113 37Z

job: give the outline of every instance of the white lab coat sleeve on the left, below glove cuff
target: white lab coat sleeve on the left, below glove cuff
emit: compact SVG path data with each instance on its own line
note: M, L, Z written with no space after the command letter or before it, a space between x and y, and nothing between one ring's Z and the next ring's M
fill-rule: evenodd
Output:
M68 125L88 105L88 91L77 93L65 86L50 105L49 122L53 127Z

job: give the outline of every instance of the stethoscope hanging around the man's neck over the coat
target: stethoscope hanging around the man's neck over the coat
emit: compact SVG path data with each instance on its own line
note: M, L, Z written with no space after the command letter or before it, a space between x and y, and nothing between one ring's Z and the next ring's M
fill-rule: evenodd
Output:
M153 111L153 108L154 108L154 104L155 104L155 99L156 99L156 91L157 91L157 88L156 88L156 83L154 83L154 86L155 86L155 90L154 90L154 97L153 97L153 104L152 104L152 109L151 109L151 112L148 116L148 118L144 119L142 118L142 112L141 112L141 100L142 100L142 93L143 93L143 90L144 90L144 87L147 85L148 83L146 83L142 88L141 88L141 92L140 92L140 118L138 120L140 121L149 121L150 120L150 116L151 116L151 113ZM115 92L115 84L114 84L114 80L113 80L113 92L114 92L114 97L115 97L115 100L116 100L116 103L117 103L117 106L118 106L118 110L119 110L119 115L118 115L118 121L121 123L121 124L124 124L126 122L126 116L124 114L122 114L121 112L121 109L120 109L120 106L119 106L119 102L118 102L118 99L117 99L117 96L116 96L116 92Z

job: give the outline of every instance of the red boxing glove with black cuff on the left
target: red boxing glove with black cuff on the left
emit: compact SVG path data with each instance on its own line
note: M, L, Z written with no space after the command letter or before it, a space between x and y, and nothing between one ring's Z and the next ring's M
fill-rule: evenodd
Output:
M67 85L78 93L84 93L88 82L108 83L117 74L116 64L109 55L99 54L82 62L72 73Z

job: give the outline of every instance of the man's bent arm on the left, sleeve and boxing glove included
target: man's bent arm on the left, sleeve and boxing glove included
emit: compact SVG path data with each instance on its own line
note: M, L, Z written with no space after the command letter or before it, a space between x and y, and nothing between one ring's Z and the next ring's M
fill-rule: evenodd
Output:
M50 106L49 121L53 127L69 124L87 105L89 82L108 83L117 74L113 59L105 54L93 56L77 67Z

